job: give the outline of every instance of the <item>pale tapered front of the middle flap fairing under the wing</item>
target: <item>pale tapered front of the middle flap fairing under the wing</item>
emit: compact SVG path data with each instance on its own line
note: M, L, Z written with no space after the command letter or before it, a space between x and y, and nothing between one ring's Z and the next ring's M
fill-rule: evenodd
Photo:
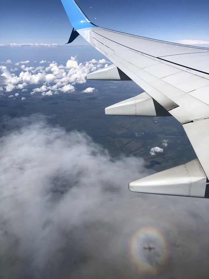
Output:
M146 93L105 108L106 115L156 116L153 99Z

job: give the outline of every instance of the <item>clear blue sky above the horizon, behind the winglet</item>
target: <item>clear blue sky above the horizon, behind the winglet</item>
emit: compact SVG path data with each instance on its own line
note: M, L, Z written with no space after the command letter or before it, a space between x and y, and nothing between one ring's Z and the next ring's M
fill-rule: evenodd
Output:
M209 41L208 0L77 0L77 3L93 23L102 27L167 41ZM1 44L64 44L72 30L60 0L3 1L0 22ZM87 43L79 36L73 44Z

